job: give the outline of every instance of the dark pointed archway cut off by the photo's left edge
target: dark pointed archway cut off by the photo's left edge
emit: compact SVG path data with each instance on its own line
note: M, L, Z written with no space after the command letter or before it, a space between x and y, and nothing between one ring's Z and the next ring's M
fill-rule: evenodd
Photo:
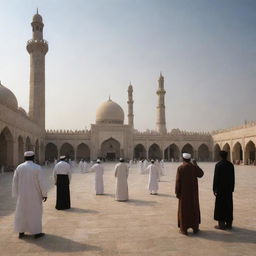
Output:
M8 127L0 133L0 167L10 169L13 167L13 136Z

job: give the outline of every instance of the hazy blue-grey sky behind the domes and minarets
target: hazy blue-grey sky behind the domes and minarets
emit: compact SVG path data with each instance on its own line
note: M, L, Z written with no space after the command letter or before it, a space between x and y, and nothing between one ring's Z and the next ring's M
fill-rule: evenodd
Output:
M155 128L165 77L167 129L212 131L255 120L255 0L0 0L0 80L28 109L31 20L43 16L46 128L84 129L111 95L127 123Z

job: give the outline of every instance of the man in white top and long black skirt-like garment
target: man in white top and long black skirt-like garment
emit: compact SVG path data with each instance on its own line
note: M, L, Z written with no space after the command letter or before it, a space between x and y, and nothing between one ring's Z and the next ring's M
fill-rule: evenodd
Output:
M53 169L54 182L57 188L56 206L57 210L70 208L69 184L71 181L71 166L67 163L66 156L61 156L60 161Z

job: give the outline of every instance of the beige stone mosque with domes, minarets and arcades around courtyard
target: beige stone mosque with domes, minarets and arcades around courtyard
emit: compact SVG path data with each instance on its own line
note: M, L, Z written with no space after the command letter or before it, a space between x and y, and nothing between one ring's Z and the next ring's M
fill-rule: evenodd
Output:
M30 55L30 93L28 113L18 105L16 96L0 82L0 167L13 170L23 162L24 151L34 150L43 164L60 155L71 159L94 160L97 157L114 161L158 158L180 161L182 152L191 153L199 161L216 161L218 152L229 152L229 159L255 164L256 122L212 133L167 130L165 122L164 77L160 74L156 95L156 129L140 132L134 128L133 87L128 86L128 123L124 111L108 99L96 111L96 120L89 130L45 129L45 55L48 42L43 38L43 19L36 13L31 23L32 39L27 42Z

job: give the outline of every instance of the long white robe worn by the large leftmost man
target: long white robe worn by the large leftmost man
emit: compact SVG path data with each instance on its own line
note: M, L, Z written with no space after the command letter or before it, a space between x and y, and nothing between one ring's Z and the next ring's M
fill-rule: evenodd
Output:
M17 197L15 232L42 232L42 199L47 197L47 186L41 166L26 161L20 164L13 176L12 196Z

